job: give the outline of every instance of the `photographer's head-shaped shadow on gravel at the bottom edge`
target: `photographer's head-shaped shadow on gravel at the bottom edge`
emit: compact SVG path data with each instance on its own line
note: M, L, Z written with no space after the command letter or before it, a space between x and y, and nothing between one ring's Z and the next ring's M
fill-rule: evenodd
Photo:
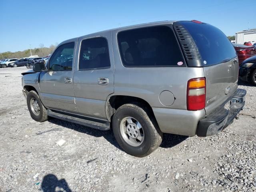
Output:
M44 176L41 188L43 192L62 192L63 190L66 192L72 192L68 187L68 183L65 179L60 179L54 174L48 174Z

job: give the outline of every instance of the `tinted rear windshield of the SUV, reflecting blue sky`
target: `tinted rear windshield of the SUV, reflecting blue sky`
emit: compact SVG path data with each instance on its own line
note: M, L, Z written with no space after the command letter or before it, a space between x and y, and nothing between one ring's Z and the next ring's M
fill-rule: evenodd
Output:
M205 65L219 64L236 57L231 42L218 28L190 21L183 21L182 25L194 39Z

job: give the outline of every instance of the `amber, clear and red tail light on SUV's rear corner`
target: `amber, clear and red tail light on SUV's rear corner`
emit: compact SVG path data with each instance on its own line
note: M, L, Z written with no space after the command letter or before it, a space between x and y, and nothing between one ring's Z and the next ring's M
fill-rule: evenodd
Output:
M205 108L206 79L194 78L188 81L187 110L196 111Z

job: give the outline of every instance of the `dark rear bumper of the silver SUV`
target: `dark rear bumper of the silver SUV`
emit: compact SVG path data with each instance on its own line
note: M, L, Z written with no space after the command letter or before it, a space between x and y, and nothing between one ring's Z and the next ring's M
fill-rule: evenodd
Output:
M237 89L222 106L199 121L196 134L202 137L210 136L226 128L243 109L245 95L246 90Z

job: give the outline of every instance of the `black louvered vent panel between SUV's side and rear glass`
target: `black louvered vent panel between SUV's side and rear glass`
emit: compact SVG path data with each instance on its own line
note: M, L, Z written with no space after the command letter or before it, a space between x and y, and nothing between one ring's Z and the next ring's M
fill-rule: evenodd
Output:
M188 66L190 66L190 63L193 63L193 66L195 63L199 64L201 61L201 55L190 33L186 30L186 28L179 24L179 22L174 22L173 27L184 56L188 62Z

